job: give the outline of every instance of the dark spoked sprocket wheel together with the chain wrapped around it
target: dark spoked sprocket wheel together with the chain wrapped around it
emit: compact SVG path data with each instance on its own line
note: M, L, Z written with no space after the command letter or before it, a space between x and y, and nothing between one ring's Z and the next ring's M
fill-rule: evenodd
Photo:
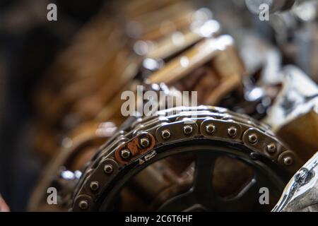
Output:
M295 153L274 138L269 127L252 118L218 107L167 109L158 112L158 117L136 120L98 150L76 187L72 210L116 210L120 206L119 191L126 183L134 184L129 182L131 177L158 160L181 153L193 155L186 157L186 165L177 168L180 173L192 165L193 184L181 194L170 187L169 194L161 194L157 197L160 201L152 203L155 210L264 210L257 204L259 188L270 187L271 201L276 203L288 174L300 167ZM221 198L213 191L213 177L217 177L213 165L218 157L225 156L252 169L252 177L232 198ZM177 162L172 161L172 165ZM225 169L224 165L221 168ZM245 167L232 168L232 172L237 170L241 175L247 172ZM226 174L226 170L219 173ZM146 175L145 182L155 179Z

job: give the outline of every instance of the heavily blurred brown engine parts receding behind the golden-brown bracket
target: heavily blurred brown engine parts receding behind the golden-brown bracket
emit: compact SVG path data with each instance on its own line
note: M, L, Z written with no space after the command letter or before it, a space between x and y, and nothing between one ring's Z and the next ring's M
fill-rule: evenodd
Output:
M147 62L166 63L220 31L218 22L211 20L211 11L196 9L188 2L143 3L132 13L133 5L120 7L118 15L124 11L128 13L126 18L110 20L100 13L90 21L76 35L74 44L59 55L49 71L54 76L41 83L36 95L41 120L35 146L42 155L54 156L59 149L58 137L88 120L112 119L121 124L123 119L114 109L122 103L120 93L130 90L132 80L139 77L139 65L143 69L140 71L157 71L160 68L149 68ZM117 20L122 26L118 26ZM131 34L129 30L139 32ZM70 62L70 58L76 60Z

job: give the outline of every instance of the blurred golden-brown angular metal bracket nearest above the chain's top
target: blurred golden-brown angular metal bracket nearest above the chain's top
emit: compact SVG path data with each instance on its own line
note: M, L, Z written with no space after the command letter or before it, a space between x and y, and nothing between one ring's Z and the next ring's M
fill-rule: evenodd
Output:
M185 46L182 45L182 47ZM170 52L165 57L170 57L171 54ZM189 64L185 66L182 63L184 60ZM194 76L194 71L198 72L196 76ZM244 74L245 69L235 51L232 37L220 35L220 37L204 38L191 49L168 60L162 69L151 73L146 78L146 83L165 83L169 85L169 88L177 87L180 91L198 90L199 104L217 105L222 97L240 86L241 77ZM197 83L198 81L199 83ZM100 110L95 119L105 121L118 118L120 107L124 102L120 98L122 92L125 90L135 92L136 85L143 84L134 81L130 85L126 85ZM119 122L120 120L124 121L124 118L119 119Z

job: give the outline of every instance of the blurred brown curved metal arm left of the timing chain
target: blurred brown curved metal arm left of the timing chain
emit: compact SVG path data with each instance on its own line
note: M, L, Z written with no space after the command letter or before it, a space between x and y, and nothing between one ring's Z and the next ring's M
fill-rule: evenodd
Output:
M57 151L57 156L49 162L42 177L37 182L28 203L28 210L48 209L47 188L53 186L53 183L59 179L61 169L72 172L81 169L83 164L95 153L95 149L105 143L116 129L117 127L111 122L86 123L69 133L69 137L64 138L62 147ZM107 173L112 171L110 167L112 166L105 167Z

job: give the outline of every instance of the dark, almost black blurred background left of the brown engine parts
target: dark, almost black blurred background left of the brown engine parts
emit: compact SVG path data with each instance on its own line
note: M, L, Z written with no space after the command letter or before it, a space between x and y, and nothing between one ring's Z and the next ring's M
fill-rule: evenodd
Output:
M58 20L47 20L47 4ZM25 210L42 165L32 151L33 88L59 50L105 4L102 0L0 0L0 193Z

